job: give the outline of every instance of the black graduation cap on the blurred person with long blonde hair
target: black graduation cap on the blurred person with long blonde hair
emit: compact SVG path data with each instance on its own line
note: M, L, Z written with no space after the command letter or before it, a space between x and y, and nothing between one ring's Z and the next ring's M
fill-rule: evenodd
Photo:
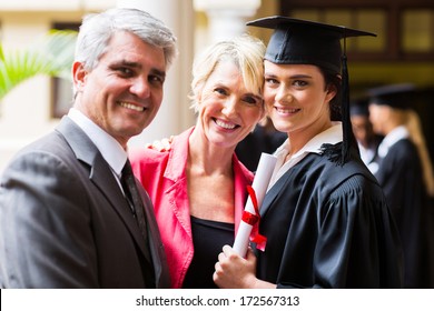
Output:
M416 100L416 88L412 83L388 84L369 89L369 104L389 106L397 109L410 109Z

